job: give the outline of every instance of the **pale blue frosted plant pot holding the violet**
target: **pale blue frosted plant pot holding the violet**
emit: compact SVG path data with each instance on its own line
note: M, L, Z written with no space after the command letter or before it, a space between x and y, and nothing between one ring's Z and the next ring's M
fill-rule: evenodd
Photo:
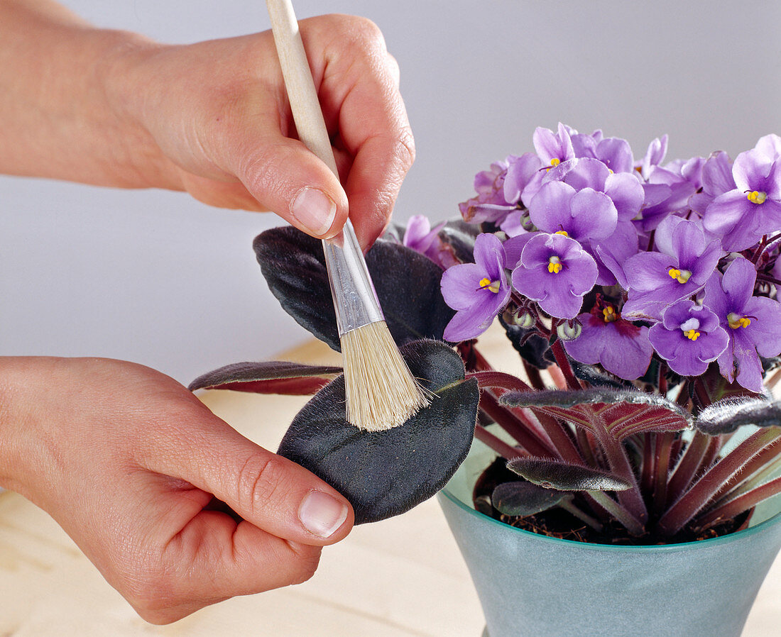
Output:
M740 635L781 548L778 497L728 536L665 546L587 544L475 511L475 481L494 457L475 440L438 495L480 597L486 635Z

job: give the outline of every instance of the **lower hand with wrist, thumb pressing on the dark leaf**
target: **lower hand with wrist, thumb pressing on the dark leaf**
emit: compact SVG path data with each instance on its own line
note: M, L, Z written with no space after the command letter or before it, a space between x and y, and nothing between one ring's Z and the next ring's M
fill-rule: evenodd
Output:
M48 511L147 621L304 582L351 529L344 497L152 369L0 358L0 379L0 484Z

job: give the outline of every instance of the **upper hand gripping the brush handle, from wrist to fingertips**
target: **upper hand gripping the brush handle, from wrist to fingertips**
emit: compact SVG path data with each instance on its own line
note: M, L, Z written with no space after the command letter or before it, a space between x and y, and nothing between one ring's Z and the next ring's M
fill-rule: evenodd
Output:
M368 247L387 225L415 154L398 65L368 20L302 20L301 37L344 190L295 139L269 31L131 48L116 67L113 104L165 158L162 170L137 167L150 183L161 185L163 177L162 185L210 205L272 210L316 237L341 230L349 200L355 232ZM147 161L148 153L138 159Z

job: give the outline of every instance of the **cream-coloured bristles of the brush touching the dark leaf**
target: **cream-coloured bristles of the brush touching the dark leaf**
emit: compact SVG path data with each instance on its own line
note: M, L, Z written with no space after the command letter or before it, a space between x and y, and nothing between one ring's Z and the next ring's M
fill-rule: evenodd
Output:
M430 403L412 377L384 321L341 337L347 419L365 431L403 424Z

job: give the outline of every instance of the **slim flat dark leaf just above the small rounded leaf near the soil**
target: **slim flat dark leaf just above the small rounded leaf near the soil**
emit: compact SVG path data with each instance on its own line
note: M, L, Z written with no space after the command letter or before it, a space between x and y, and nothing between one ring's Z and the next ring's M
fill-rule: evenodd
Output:
M632 485L612 473L550 458L519 457L507 463L512 472L547 489L624 491Z

